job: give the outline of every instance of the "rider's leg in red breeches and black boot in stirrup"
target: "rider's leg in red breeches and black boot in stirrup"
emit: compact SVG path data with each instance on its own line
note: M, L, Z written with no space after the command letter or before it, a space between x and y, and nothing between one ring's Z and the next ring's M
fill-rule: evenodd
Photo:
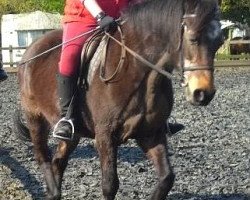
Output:
M59 105L61 109L62 119L56 124L53 136L56 138L71 140L72 129L74 124L74 116L68 115L68 108L74 107L72 105L72 97L77 89L77 72L80 65L81 50L84 42L89 37L81 37L79 39L67 42L70 39L93 29L93 27L86 27L82 22L67 23L63 25L63 47L59 62L59 75L58 75L58 96ZM67 119L65 120L65 117ZM72 123L73 124L72 124Z

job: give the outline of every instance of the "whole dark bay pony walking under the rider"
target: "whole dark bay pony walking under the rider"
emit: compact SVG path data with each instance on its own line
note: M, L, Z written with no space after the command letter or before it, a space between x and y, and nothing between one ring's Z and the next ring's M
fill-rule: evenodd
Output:
M187 100L205 106L215 94L213 60L222 44L218 13L214 0L145 1L123 14L125 45L151 63L164 61L162 69L170 73L174 68L182 70ZM61 37L60 30L44 35L27 49L22 60L60 44ZM119 40L119 33L114 37ZM105 62L107 77L115 71L120 52L121 46L110 41ZM60 199L69 155L80 137L90 137L95 139L100 157L103 199L115 198L119 187L117 149L129 138L137 141L159 176L151 199L165 199L175 177L167 157L164 129L173 107L171 79L129 53L110 82L103 82L96 69L79 101L80 128L73 141L59 142L52 157L47 140L59 119L56 87L59 55L60 50L54 50L20 66L18 71L27 128L21 121L16 121L16 126L26 130L26 136L31 138L36 160L44 173L47 198Z

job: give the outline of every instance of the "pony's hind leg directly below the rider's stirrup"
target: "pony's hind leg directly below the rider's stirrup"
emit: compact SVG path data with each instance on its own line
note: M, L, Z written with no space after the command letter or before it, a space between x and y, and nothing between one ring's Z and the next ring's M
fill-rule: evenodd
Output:
M52 160L52 169L58 189L61 192L63 173L67 167L69 155L75 150L80 138L73 141L60 141Z

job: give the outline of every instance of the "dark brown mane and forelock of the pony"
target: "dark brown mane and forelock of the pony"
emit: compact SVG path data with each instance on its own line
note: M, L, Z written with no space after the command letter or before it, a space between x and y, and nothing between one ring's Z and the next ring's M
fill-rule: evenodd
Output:
M122 15L135 34L164 38L168 51L176 50L185 14L197 14L192 27L198 30L214 16L216 0L145 0L129 7Z

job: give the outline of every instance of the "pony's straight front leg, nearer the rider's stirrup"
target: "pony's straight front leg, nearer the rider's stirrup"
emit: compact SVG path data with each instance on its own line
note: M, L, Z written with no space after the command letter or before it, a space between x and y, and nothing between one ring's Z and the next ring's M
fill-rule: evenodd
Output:
M117 144L112 136L96 136L96 148L99 153L102 171L102 192L104 200L113 200L119 188L117 176Z

